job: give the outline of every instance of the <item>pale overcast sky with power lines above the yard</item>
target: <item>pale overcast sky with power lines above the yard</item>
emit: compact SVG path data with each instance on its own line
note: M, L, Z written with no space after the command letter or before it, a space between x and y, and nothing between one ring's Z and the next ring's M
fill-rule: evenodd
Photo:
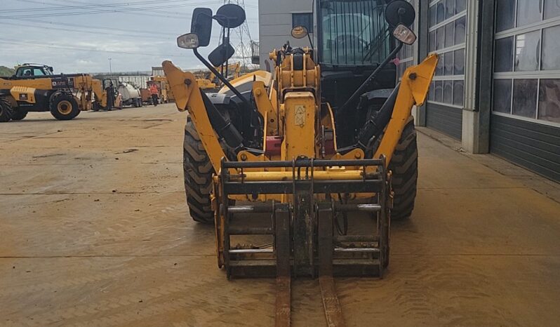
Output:
M183 69L202 67L176 45L189 32L192 10L223 0L0 0L0 65L34 62L55 73L149 71L163 60ZM232 0L232 3L237 1ZM241 3L242 0L239 0ZM128 5L127 5L128 4ZM258 39L258 0L245 0L252 39ZM130 32L129 32L130 31ZM208 53L218 45L215 22ZM246 43L248 44L248 37ZM234 46L239 42L232 33Z

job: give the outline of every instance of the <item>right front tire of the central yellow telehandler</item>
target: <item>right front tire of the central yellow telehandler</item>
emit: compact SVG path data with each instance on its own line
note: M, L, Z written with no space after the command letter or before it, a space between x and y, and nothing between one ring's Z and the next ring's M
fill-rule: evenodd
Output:
M389 170L393 173L394 192L391 219L408 219L414 209L418 184L418 145L412 116L406 122L399 144L396 145Z

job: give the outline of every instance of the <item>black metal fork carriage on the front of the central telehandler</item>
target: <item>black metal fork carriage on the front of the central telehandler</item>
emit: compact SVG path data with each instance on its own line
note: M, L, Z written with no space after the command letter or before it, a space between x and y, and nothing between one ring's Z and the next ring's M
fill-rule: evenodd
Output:
M346 169L348 167L349 169ZM374 168L375 170L371 170ZM257 169L258 171L249 171ZM266 171L281 169L281 171ZM329 171L331 170L331 171ZM370 172L371 171L371 172ZM390 175L385 158L366 160L222 161L215 179L219 265L227 276L379 276L389 261ZM267 202L231 205L236 195L272 195ZM347 203L345 199L371 199ZM353 215L371 215L369 232L347 234ZM257 226L239 216L256 216ZM262 217L269 219L262 222ZM347 220L346 220L347 219ZM346 225L345 224L345 225ZM337 228L338 227L338 228ZM232 246L232 236L272 235L267 247Z

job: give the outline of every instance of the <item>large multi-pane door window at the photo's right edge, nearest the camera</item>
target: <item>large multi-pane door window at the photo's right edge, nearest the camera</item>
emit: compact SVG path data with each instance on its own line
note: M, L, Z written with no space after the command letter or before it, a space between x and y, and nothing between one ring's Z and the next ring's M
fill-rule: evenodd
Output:
M493 113L559 125L560 1L497 0L495 13Z

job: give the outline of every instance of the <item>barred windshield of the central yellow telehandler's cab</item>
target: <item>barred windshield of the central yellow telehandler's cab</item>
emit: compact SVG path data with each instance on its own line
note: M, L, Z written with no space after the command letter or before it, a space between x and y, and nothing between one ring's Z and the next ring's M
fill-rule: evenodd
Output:
M370 66L390 53L383 0L323 0L321 64Z

